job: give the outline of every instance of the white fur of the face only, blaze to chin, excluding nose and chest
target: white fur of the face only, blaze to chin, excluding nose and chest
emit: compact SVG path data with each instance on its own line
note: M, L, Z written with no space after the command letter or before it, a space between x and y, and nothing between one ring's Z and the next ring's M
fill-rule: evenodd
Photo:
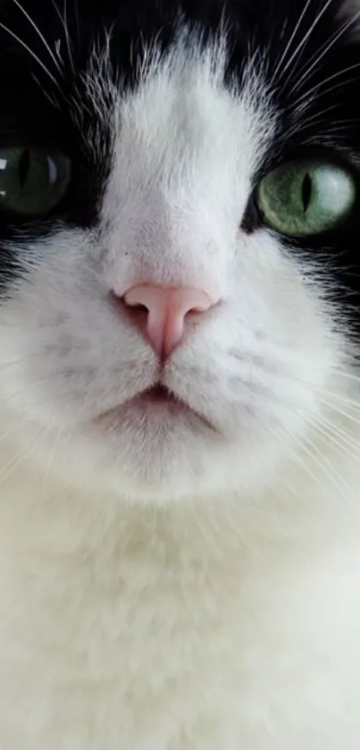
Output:
M92 103L95 125L83 138L104 173L112 156L100 221L60 225L21 249L28 273L0 321L0 359L15 363L0 367L4 428L26 415L29 430L32 420L69 430L66 481L134 499L213 493L224 477L231 488L262 483L258 456L271 473L282 451L269 424L297 440L334 360L322 287L306 284L297 255L265 227L241 229L276 135L261 65L244 61L230 89L224 44L199 48L179 42L163 59L148 50L133 90L115 85L106 53L94 56L78 113ZM163 382L217 427L221 445L186 417L144 425L126 411L109 429L93 424L159 377L155 352L110 293L144 282L219 299ZM48 442L39 450L46 466Z

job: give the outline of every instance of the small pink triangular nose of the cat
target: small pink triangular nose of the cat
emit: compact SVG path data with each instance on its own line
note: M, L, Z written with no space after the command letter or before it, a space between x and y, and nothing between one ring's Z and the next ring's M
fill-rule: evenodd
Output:
M169 357L188 325L197 322L214 304L205 291L150 284L131 287L122 302L130 321L161 358Z

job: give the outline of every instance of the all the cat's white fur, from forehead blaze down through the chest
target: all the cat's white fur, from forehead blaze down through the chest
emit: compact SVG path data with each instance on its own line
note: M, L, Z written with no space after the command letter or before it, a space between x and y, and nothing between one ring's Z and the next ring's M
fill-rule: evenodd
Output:
M143 73L98 231L29 248L1 309L0 748L358 750L352 344L322 266L239 229L276 129L251 65ZM108 297L139 281L221 299L163 373L216 431L96 421L159 376Z

